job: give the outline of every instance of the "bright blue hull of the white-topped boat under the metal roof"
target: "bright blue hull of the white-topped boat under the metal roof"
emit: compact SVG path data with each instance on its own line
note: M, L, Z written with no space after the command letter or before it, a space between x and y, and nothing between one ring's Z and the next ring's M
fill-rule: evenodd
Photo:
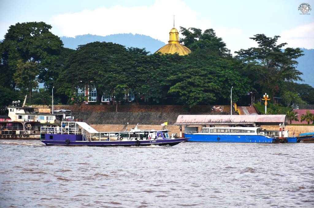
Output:
M208 135L208 134L185 134L190 137L189 142L251 142L251 143L274 143L274 138L261 135Z

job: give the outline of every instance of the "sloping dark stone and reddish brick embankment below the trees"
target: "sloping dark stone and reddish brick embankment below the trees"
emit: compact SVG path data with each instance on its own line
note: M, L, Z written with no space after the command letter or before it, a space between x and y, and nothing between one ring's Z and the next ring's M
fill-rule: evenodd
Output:
M221 106L223 112L212 112L212 106L196 106L190 112L184 112L183 106L133 106L121 105L116 111L115 106L110 105L58 105L54 108L71 110L72 116L89 124L115 124L115 125L160 125L168 122L169 125L176 122L182 114L229 114L229 106ZM228 108L229 107L229 108Z

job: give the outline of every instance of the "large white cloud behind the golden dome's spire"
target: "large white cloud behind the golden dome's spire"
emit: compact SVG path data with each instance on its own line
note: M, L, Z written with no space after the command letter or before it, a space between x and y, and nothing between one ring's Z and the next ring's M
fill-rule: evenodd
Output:
M74 37L82 34L109 35L132 33L149 35L163 42L169 40L173 27L211 28L209 20L199 19L199 14L180 0L157 0L152 6L97 8L79 13L53 17L52 25L59 36Z

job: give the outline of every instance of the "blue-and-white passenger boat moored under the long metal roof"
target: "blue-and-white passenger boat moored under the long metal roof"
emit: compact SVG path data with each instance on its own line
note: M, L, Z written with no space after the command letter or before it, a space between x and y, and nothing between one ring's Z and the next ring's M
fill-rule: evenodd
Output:
M187 131L189 142L287 143L296 138L274 137L261 127L203 127L201 132ZM285 132L288 134L288 131Z

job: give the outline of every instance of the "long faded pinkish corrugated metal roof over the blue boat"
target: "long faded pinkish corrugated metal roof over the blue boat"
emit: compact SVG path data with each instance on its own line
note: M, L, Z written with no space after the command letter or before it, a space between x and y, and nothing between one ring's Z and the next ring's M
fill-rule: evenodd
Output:
M288 122L286 115L179 115L174 125L183 123L280 123ZM190 124L192 125L192 124Z

